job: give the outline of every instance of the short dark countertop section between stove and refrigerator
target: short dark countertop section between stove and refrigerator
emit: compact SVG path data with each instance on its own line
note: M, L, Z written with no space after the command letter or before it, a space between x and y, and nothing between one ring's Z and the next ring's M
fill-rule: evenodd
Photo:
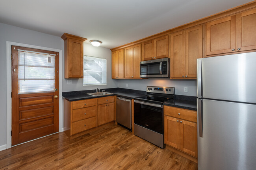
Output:
M182 109L197 110L197 97L175 95L175 99L163 103L166 106L179 107Z

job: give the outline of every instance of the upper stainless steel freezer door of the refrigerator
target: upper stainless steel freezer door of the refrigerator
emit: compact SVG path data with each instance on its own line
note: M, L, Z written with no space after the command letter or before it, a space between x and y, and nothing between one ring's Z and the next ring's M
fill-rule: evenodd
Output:
M256 52L198 60L202 61L202 76L197 81L202 98L256 103ZM200 65L198 74L199 69Z

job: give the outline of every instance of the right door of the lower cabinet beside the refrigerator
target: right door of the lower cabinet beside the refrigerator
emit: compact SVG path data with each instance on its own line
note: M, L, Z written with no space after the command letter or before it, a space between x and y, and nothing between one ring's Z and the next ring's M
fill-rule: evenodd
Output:
M180 119L180 150L197 157L197 123Z

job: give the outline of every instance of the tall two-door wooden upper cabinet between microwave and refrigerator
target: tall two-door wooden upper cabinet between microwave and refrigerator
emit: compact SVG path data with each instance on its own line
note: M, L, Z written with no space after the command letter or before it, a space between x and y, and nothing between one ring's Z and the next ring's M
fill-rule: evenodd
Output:
M197 78L197 58L203 54L202 25L169 35L171 78Z

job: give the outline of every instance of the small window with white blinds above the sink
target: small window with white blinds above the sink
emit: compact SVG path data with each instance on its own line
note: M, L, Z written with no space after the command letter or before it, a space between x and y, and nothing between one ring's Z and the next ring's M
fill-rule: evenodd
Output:
M83 85L107 84L107 60L83 56Z

